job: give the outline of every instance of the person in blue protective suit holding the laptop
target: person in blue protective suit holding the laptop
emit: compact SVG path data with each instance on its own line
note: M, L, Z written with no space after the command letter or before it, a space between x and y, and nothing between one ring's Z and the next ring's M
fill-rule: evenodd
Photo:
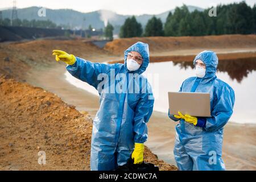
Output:
M223 127L233 113L234 90L216 77L215 52L200 52L193 61L196 77L187 78L179 92L210 93L211 117L170 115L176 125L174 157L179 170L225 170L221 159ZM196 106L195 106L196 107Z

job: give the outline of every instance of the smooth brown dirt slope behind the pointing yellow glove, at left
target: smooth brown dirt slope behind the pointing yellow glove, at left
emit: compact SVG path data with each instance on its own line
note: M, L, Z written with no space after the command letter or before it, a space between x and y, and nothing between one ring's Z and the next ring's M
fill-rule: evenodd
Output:
M22 81L31 68L56 65L53 49L61 49L90 60L111 55L86 40L34 40L31 42L0 44L0 73Z

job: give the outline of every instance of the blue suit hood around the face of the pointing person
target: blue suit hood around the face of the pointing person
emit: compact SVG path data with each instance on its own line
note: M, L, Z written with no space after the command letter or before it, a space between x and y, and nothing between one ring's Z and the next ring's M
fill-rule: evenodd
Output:
M136 51L139 52L143 58L143 63L141 65L141 67L139 67L138 70L136 71L129 71L127 69L126 66L126 59L127 59L127 54L131 51ZM133 46L129 47L126 49L125 53L125 68L127 71L129 71L130 73L138 73L139 75L141 75L147 68L148 63L149 63L149 49L148 49L148 44L143 43L143 42L137 42L135 44L133 44Z

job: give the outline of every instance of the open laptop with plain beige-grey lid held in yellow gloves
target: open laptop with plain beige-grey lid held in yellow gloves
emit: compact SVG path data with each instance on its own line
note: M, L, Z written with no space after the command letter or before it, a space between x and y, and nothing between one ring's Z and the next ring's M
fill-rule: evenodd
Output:
M168 92L171 115L189 114L195 117L210 117L210 93Z

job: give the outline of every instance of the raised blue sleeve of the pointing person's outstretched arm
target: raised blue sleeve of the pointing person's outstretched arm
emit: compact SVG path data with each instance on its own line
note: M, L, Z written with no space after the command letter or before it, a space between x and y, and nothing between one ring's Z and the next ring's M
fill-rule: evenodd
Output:
M113 66L110 64L92 63L76 57L75 64L68 65L67 71L79 80L85 81L97 89L102 80L97 80L100 73L107 73Z

